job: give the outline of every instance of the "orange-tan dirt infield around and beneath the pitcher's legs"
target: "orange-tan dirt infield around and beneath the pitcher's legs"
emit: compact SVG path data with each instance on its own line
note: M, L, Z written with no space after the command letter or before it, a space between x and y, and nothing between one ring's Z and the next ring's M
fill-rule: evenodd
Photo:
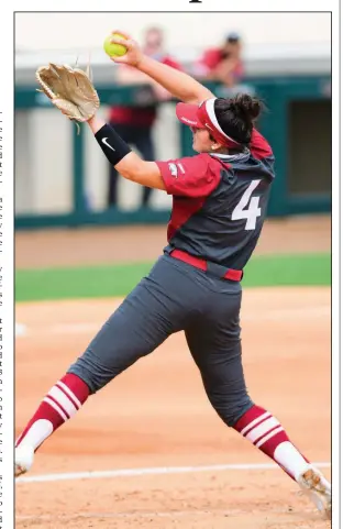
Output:
M16 432L117 301L19 304ZM246 381L313 461L330 461L330 289L246 290ZM228 429L208 403L181 333L92 397L18 483L18 528L323 529L297 485ZM199 465L242 465L199 470ZM246 465L246 466L244 466ZM179 473L170 467L187 466ZM156 471L156 467L164 467ZM141 475L79 472L151 469ZM175 472L175 471L174 471ZM330 467L323 472L330 476ZM60 477L60 476L59 476Z

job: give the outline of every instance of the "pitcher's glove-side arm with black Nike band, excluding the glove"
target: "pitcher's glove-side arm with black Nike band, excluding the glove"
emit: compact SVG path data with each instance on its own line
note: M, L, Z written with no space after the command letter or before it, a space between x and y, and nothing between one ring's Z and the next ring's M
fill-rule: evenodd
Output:
M145 162L132 152L103 119L95 115L88 121L88 125L108 161L124 178L142 186L166 190L161 170L155 162Z

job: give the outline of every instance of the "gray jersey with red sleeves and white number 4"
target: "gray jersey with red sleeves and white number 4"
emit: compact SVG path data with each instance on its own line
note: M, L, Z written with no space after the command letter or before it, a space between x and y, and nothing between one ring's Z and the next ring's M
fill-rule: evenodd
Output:
M254 131L237 155L200 154L157 163L173 195L168 247L243 269L266 217L274 156Z

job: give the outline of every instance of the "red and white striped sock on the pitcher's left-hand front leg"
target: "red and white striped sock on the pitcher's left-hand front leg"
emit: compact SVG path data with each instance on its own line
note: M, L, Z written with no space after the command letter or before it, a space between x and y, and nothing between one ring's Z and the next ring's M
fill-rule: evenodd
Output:
M84 381L73 374L65 375L43 398L15 447L25 443L37 450L45 439L81 408L88 396L89 388Z

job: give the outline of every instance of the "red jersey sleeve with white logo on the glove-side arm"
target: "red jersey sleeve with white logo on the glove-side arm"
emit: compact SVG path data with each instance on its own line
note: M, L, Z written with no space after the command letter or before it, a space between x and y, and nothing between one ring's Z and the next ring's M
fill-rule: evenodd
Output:
M208 154L156 162L168 195L198 198L207 197L218 186L220 164Z

